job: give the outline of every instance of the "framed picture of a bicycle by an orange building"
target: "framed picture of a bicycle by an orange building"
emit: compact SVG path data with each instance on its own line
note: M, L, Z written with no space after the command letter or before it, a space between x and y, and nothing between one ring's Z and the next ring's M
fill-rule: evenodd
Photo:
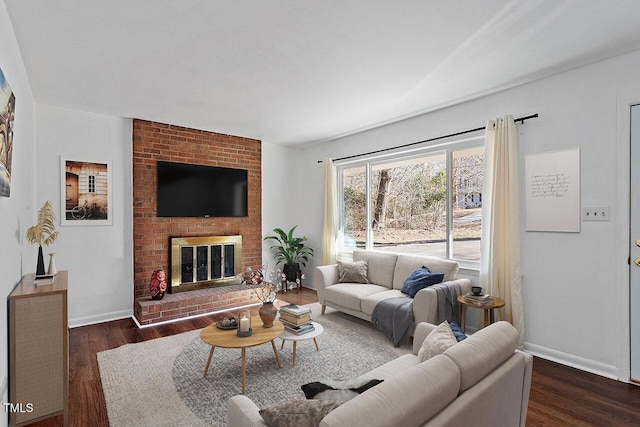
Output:
M112 225L111 163L60 158L60 224Z

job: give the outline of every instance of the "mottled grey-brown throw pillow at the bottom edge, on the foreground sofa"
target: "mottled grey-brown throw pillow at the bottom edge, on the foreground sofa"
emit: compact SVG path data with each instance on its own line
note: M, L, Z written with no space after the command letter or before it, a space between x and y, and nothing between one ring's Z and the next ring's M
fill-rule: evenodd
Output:
M317 427L341 404L325 400L290 400L260 409L259 413L270 427Z

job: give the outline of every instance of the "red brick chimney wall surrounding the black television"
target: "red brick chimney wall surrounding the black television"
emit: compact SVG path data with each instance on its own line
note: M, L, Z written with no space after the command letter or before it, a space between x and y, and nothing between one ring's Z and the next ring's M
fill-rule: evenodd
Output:
M158 160L248 170L249 216L158 218ZM262 265L262 152L255 139L133 121L134 298L149 296L151 273L170 266L170 238L241 235L243 269Z

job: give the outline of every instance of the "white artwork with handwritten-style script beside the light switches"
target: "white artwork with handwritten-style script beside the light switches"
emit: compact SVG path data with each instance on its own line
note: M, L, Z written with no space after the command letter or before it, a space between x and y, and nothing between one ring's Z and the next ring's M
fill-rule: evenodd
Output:
M525 156L525 229L580 232L580 149Z

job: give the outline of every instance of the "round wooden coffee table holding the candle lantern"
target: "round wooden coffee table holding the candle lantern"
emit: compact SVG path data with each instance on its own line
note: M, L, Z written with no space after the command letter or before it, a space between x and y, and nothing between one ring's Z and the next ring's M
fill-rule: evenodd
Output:
M211 345L211 351L209 352L209 358L207 359L207 366L204 368L203 377L207 376L209 371L209 364L211 363L211 357L213 356L213 350L216 347L222 348L239 348L242 350L242 393L244 394L247 387L247 359L246 352L247 347L255 347L257 345L271 342L273 353L276 355L276 362L278 367L282 368L282 362L280 362L280 355L274 340L282 334L284 326L279 321L273 322L272 328L265 328L262 325L252 326L253 333L249 337L239 337L236 329L220 329L214 323L209 325L200 331L200 339L205 343Z

